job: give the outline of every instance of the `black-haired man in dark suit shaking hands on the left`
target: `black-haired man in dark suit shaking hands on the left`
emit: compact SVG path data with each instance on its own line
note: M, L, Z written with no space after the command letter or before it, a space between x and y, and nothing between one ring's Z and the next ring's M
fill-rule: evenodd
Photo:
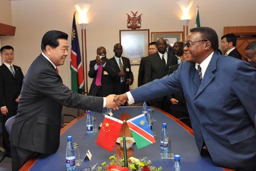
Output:
M37 154L58 150L62 106L101 112L115 108L114 95L84 96L66 87L57 73L68 56L68 35L49 31L41 41L42 53L24 78L17 115L11 131L12 170Z

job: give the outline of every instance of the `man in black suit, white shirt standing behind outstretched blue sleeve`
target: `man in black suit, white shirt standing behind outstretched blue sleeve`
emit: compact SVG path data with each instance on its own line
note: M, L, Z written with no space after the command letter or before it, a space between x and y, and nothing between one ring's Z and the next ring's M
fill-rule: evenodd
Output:
M158 52L147 57L145 68L145 84L152 82L155 79L163 78L167 75L169 67L178 63L176 56L166 52L166 47L166 40L164 38L158 39ZM167 100L166 96L162 96L156 99L151 99L151 105L167 111L169 108L168 101L169 100Z

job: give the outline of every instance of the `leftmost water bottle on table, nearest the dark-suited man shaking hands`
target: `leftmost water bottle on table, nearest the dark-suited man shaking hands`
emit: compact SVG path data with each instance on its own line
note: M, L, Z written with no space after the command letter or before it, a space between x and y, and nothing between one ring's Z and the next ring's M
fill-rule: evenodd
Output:
M68 136L66 148L66 169L68 171L76 170L75 148L72 143L72 136Z

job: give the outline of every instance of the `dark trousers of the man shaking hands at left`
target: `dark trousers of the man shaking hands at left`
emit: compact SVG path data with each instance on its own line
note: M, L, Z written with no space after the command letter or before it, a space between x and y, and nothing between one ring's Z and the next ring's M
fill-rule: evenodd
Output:
M39 153L37 152L32 152L12 145L12 170L19 170L29 159L38 154Z

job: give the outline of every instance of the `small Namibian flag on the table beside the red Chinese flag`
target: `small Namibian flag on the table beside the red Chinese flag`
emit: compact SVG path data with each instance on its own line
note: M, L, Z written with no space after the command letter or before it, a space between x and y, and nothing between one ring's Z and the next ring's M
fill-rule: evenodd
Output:
M126 123L132 132L138 149L156 142L144 114L129 119Z

